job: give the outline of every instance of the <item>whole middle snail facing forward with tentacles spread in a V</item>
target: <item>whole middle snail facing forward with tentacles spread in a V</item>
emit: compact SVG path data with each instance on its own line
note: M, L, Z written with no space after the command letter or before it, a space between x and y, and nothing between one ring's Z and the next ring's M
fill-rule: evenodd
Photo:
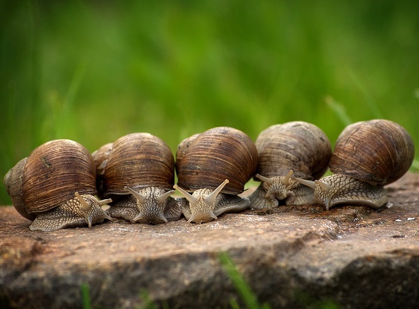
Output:
M206 130L181 141L176 157L174 188L188 201L181 205L188 222L210 222L249 207L238 194L256 170L258 151L245 133L226 126Z

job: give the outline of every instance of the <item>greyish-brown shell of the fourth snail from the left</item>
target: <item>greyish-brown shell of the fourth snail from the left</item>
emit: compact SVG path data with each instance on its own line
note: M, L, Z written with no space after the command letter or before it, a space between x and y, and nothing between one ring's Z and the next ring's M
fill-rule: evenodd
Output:
M318 179L332 155L326 134L308 122L274 124L256 139L259 153L258 174L265 177L284 176L290 170L302 179Z

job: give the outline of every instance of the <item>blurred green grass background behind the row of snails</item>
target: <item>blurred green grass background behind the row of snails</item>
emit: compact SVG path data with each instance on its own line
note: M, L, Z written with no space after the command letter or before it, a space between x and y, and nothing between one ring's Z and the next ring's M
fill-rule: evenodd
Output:
M417 1L1 1L1 176L45 141L133 132L256 139L304 120L332 144L383 117L419 146ZM0 204L10 199L0 187Z

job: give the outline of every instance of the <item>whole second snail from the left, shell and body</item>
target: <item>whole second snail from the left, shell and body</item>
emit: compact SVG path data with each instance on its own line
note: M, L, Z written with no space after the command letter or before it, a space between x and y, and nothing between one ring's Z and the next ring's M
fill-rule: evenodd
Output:
M169 146L149 133L131 133L93 152L100 194L112 197L115 218L159 224L178 220L174 158Z

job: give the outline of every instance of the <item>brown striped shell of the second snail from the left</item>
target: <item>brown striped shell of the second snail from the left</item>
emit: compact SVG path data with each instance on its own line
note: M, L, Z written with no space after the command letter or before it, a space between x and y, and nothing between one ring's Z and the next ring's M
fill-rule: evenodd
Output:
M144 187L172 190L174 158L169 146L159 137L132 133L120 137L111 149L108 145L104 150L109 152L106 165L102 165L105 196L130 194L124 190L125 186L133 190Z

